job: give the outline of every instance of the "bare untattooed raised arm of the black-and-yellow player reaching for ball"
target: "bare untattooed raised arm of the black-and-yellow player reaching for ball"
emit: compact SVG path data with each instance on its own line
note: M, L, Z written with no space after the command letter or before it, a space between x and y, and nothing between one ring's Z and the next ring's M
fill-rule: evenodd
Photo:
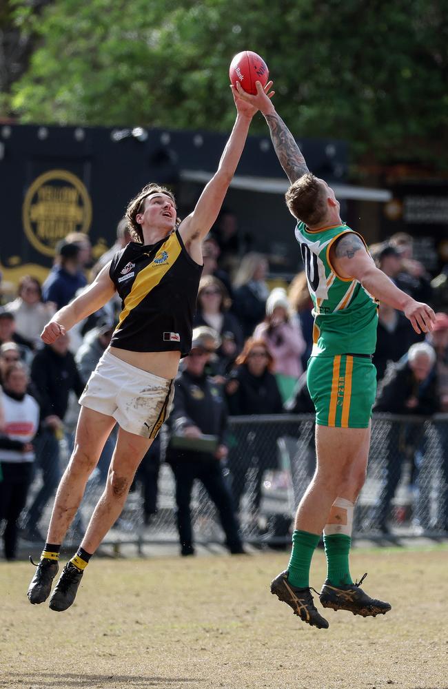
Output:
M271 85L272 82L269 82L265 87L266 90L269 90ZM268 96L266 97L268 98ZM210 228L221 210L225 194L243 153L252 117L256 113L256 107L242 101L236 92L234 92L234 101L236 105L236 121L230 138L225 145L218 169L210 182L207 183L199 197L198 203L196 203L194 211L179 226L181 237L190 254L196 260L198 260L197 252L200 251L201 242L210 232ZM196 244L196 247L192 247L192 243ZM196 256L194 255L194 249L196 249Z

